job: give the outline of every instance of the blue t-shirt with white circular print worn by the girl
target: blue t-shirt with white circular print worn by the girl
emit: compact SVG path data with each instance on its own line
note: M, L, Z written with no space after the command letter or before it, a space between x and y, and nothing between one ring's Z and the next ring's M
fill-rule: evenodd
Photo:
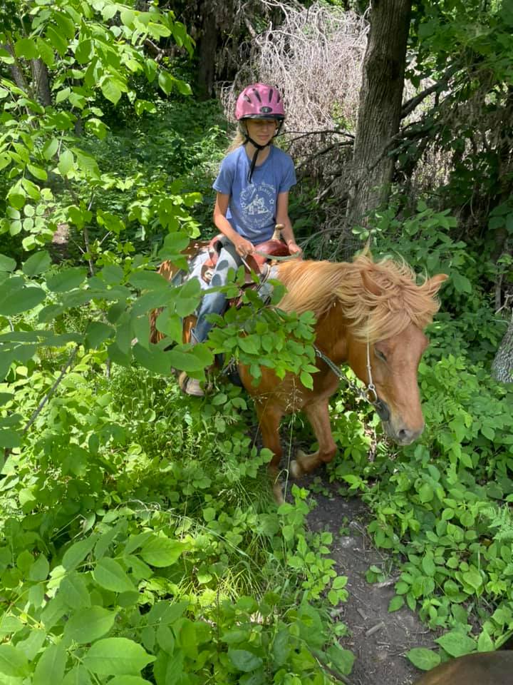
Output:
M232 228L254 245L269 240L276 223L276 201L296 183L294 162L286 152L271 145L269 155L255 166L248 183L251 161L244 146L221 162L214 191L229 195L227 219Z

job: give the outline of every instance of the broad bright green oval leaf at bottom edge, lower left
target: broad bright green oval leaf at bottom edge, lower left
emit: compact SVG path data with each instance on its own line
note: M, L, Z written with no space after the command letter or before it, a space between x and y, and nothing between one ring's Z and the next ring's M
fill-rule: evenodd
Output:
M142 646L125 637L99 640L83 656L83 664L89 671L108 676L139 675L152 661L155 661L155 656L150 656Z

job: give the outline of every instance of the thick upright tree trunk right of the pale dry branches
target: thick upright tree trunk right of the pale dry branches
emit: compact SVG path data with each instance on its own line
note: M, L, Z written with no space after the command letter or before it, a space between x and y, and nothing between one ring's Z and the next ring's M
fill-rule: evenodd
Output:
M387 154L399 131L411 0L372 0L358 124L348 225L388 199L393 158Z

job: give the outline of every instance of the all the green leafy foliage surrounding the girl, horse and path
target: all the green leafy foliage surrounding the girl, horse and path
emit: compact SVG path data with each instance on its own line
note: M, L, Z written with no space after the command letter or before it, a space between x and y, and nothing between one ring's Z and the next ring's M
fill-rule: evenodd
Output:
M331 533L309 531L309 492L288 484L289 502L270 501L270 455L239 388L214 380L199 402L170 375L203 377L222 352L255 376L269 365L309 385L313 360L311 315L279 315L251 293L208 344L181 344L199 288L170 288L155 265L182 265L190 238L210 235L210 183L227 143L217 104L197 103L182 80L193 73L185 26L156 6L107 0L9 8L0 25L2 682L321 685L348 674L353 655L340 640L351 626L330 617L346 578ZM423 76L451 66L447 46L465 43L445 106L400 150L405 168L426 136L451 150L447 185L420 200L397 196L354 229L376 255L450 274L419 370L427 430L397 450L353 397L341 392L332 406L341 453L328 474L344 496L368 502L369 533L400 565L390 611L408 604L445 631L440 654L410 654L421 668L513 631L504 410L513 397L489 375L506 328L495 286L504 301L512 282L510 172L488 143L472 146L475 126L447 130L452 105L478 94L485 131L506 121L509 91L497 83L510 78L511 15L493 4L491 29L471 31L484 26L473 11L419 6L411 34ZM311 253L325 210L317 191L306 178L291 203ZM462 208L474 193L484 198L471 223ZM164 308L158 327L171 350L147 342L154 307ZM290 445L295 417L289 429ZM373 567L368 579L389 570Z

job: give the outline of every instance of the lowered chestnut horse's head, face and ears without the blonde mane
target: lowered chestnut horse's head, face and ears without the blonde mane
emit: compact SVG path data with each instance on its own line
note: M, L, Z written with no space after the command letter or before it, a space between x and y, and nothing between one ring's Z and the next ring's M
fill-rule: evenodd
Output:
M372 293L379 303L383 315L383 330L385 335L380 339L379 324L371 331L371 342L360 338L348 339L348 358L356 375L369 385L373 382L378 395L378 413L383 420L383 427L387 435L400 445L409 445L416 440L424 430L424 417L420 405L420 393L417 382L418 365L428 340L415 321L409 318L408 312L402 308L401 293L398 290L388 299L386 288L372 278L372 273L361 272L364 288ZM422 290L422 298L433 300L440 285L447 278L445 274L433 276L421 286L413 288ZM413 291L415 293L415 291ZM422 300L421 300L422 301ZM410 305L414 305L414 298L409 298ZM385 318L393 318L395 314L403 320L398 333L385 325ZM405 324L405 325L404 325ZM388 335L387 335L388 333ZM371 377L369 377L368 363L370 362ZM373 400L373 398L371 398Z

